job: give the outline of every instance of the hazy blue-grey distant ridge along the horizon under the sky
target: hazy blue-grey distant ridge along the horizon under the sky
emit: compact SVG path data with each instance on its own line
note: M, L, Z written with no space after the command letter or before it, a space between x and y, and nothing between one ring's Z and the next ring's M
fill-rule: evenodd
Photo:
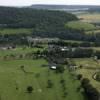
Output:
M48 10L89 10L89 9L98 9L100 6L96 5L46 5L46 4L35 4L31 5L30 8L35 9L48 9Z

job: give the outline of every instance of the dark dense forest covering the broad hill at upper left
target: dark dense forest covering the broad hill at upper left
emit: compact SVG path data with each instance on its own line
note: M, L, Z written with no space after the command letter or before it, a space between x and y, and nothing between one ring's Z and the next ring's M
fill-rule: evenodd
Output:
M76 19L74 15L60 11L0 7L0 24L6 27L56 27Z

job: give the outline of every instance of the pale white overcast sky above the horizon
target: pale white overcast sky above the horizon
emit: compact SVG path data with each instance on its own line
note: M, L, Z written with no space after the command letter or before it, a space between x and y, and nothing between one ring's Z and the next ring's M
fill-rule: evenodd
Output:
M100 5L100 0L0 0L0 6L29 6L32 4Z

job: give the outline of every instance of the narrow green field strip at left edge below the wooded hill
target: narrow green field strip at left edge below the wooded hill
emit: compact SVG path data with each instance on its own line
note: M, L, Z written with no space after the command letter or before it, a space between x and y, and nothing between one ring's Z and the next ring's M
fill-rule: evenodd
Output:
M31 34L32 28L0 28L0 34Z

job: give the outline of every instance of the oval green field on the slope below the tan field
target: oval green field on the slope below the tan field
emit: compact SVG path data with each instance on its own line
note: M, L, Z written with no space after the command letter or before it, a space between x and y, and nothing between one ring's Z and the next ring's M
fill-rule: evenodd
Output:
M71 21L68 22L65 26L71 29L85 30L85 31L96 29L96 27L93 24L81 22L81 21Z

